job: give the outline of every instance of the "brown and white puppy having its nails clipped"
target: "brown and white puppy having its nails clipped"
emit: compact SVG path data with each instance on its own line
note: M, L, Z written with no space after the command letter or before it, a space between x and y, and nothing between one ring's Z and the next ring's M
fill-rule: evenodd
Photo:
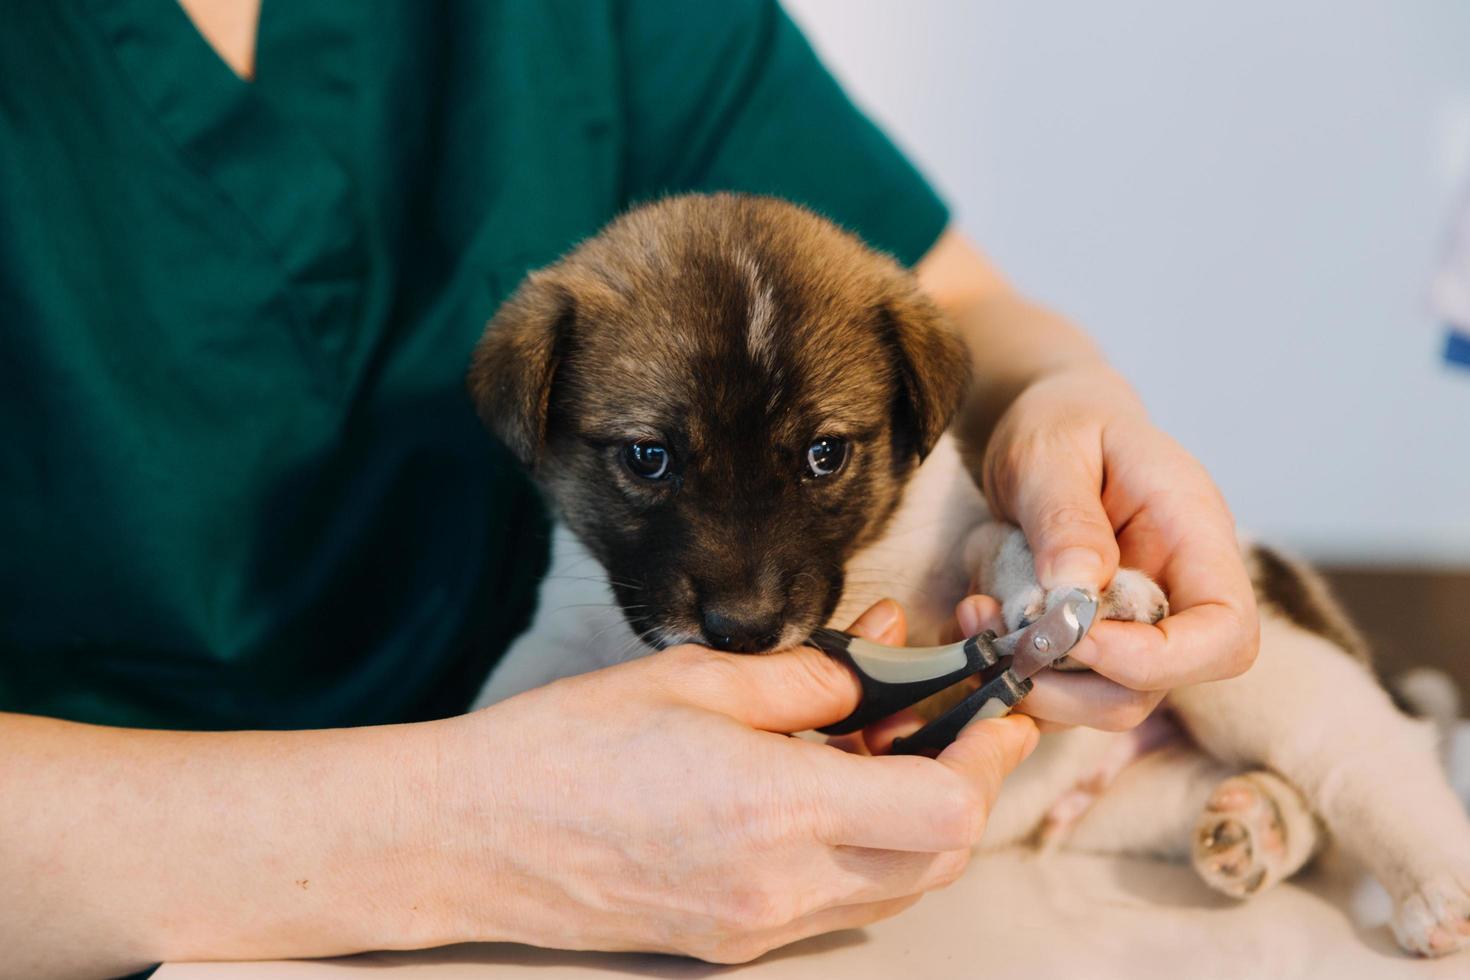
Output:
M991 522L945 435L969 357L892 260L795 206L676 197L531 273L478 347L469 388L560 523L531 629L490 704L673 644L801 644L891 595L914 645L967 586L1016 629L1041 614L1030 552ZM1261 652L1169 695L1191 741L1072 730L1007 783L986 845L1189 858L1245 898L1327 839L1395 901L1413 952L1470 942L1470 820L1429 726L1401 714L1302 566L1245 547ZM1120 572L1111 619L1167 611ZM1133 761L1136 758L1136 761Z

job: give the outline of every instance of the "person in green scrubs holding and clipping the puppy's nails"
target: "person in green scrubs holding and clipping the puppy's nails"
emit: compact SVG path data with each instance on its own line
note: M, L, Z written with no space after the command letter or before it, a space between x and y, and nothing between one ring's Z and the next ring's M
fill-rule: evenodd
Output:
M744 959L958 874L1025 718L938 761L844 754L770 733L847 714L845 670L698 648L460 714L545 548L470 347L528 269L666 191L786 197L914 264L1041 579L1102 585L1122 551L1167 586L1176 613L1100 626L1036 718L1126 727L1251 663L1208 476L773 3L257 13L26 3L0 31L0 970ZM901 642L901 611L856 629Z

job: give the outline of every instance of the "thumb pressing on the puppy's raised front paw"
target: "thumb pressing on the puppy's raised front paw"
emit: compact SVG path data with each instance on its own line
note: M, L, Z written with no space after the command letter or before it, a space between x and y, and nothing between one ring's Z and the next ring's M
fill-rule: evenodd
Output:
M1101 466L1069 455L1028 467L1011 510L1026 532L1045 589L1101 589L1117 572L1117 538L1102 510Z

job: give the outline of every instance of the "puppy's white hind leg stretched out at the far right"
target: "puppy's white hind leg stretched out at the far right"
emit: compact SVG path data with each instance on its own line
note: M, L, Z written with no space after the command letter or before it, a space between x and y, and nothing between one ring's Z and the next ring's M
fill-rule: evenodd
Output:
M1429 726L1395 710L1339 646L1270 607L1263 613L1255 666L1179 689L1170 705L1207 752L1269 768L1301 793L1333 840L1388 889L1405 949L1441 955L1464 946L1470 818L1439 768Z

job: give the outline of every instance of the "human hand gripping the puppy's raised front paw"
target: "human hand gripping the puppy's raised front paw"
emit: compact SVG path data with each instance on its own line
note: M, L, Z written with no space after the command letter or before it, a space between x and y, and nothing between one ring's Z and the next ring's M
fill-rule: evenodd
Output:
M992 511L1026 532L1042 586L1101 589L1122 560L1169 595L1170 616L1155 626L1097 623L1070 654L1095 673L1036 677L1028 714L1129 729L1167 691L1254 663L1255 599L1225 501L1105 364L1070 364L1030 383L997 423L982 476ZM978 632L994 601L970 597L957 616Z

